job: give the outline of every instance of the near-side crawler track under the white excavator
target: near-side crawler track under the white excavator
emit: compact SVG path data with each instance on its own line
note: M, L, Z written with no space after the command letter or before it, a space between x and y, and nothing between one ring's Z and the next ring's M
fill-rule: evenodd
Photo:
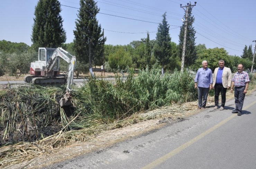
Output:
M65 77L35 77L32 79L32 83L38 85L58 85L67 83Z

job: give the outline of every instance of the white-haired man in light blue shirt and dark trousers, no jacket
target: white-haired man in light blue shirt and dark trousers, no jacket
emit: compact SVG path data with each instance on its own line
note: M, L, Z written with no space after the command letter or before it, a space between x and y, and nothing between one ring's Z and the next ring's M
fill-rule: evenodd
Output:
M195 88L198 91L198 109L204 109L209 89L212 89L212 71L208 68L208 62L203 61L201 68L195 75Z

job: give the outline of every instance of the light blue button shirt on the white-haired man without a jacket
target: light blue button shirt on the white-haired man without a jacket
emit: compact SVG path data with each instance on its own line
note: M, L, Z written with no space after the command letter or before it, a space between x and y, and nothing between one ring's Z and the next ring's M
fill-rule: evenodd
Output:
M212 71L208 67L204 70L203 67L199 68L195 75L195 83L198 87L208 88L212 84Z

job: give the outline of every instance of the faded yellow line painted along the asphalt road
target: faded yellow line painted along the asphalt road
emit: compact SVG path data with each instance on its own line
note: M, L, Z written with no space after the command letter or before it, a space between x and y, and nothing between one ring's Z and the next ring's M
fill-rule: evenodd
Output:
M246 107L243 108L243 110L246 110L247 108L249 108L250 106L254 105L256 103L256 101L254 101L253 103L250 103L249 105L247 105ZM178 154L179 152L181 152L182 150L184 150L185 148L189 147L190 145L192 145L193 143L195 143L196 141L200 140L201 138L203 138L204 136L208 135L209 133L211 133L212 131L216 130L217 128L219 128L220 126L222 126L223 124L227 123L229 120L231 120L232 118L234 118L235 116L237 116L237 114L233 114L230 117L226 118L225 120L223 120L222 122L218 123L217 125L213 126L212 128L204 131L202 134L196 136L195 138L189 140L188 142L186 142L185 144L181 145L180 147L172 150L171 152L169 152L168 154L156 159L155 161L149 163L148 165L146 165L145 167L143 167L142 169L150 169L150 168L155 168L156 166L158 166L159 164L161 164L162 162L166 161L167 159L171 158L172 156Z

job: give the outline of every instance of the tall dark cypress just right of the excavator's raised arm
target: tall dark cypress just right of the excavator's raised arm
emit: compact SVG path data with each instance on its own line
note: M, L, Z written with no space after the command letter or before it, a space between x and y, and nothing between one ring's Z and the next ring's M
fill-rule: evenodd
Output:
M103 56L103 45L106 38L103 39L101 25L96 18L99 13L97 2L94 0L80 0L80 9L75 21L74 47L77 53L77 60L81 63L89 63L89 69L92 67L92 61ZM85 70L84 70L85 71Z

